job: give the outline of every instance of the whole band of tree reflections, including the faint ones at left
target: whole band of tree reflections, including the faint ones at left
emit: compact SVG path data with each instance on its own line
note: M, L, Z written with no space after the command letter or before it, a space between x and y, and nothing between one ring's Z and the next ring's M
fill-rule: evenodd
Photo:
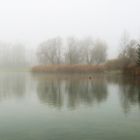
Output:
M1 73L0 74L0 101L10 98L22 99L28 94L37 95L41 103L53 107L77 108L80 105L93 105L106 102L110 96L110 86L115 85L113 93L119 95L116 99L127 113L132 107L140 106L140 82L135 79L113 76L94 76L92 79L77 76L38 75L30 77L29 73ZM37 84L37 85L36 85ZM33 99L36 96L33 96ZM115 96L116 98L116 96ZM112 100L112 99L110 99Z

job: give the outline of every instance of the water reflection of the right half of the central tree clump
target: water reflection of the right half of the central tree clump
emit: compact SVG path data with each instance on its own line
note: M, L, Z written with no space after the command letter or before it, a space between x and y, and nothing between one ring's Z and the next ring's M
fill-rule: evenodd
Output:
M107 98L107 88L104 81L70 80L66 82L69 107L76 107L78 104L92 104L102 102Z

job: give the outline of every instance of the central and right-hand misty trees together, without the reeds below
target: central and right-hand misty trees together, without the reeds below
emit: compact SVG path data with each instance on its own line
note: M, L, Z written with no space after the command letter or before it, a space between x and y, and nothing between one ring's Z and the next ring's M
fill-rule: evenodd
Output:
M140 65L139 40L129 37L127 32L121 36L118 56L107 59L108 45L101 39L77 39L74 37L63 40L51 38L38 46L37 57L40 64L105 64L111 69L123 69Z

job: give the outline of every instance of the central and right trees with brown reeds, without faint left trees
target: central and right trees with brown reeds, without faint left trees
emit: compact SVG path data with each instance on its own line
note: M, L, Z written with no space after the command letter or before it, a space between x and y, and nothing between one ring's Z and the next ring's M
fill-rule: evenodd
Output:
M32 72L69 72L69 73L103 73L114 72L140 75L139 41L130 39L124 33L119 43L119 53L108 60L108 45L103 40L92 38L48 39L37 50L39 65Z

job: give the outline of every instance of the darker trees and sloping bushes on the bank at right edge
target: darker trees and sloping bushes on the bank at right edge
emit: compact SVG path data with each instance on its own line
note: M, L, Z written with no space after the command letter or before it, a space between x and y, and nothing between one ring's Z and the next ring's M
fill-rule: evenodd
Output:
M124 32L120 39L117 58L108 60L106 66L109 69L124 69L127 67L140 66L139 40L130 38L129 34Z

